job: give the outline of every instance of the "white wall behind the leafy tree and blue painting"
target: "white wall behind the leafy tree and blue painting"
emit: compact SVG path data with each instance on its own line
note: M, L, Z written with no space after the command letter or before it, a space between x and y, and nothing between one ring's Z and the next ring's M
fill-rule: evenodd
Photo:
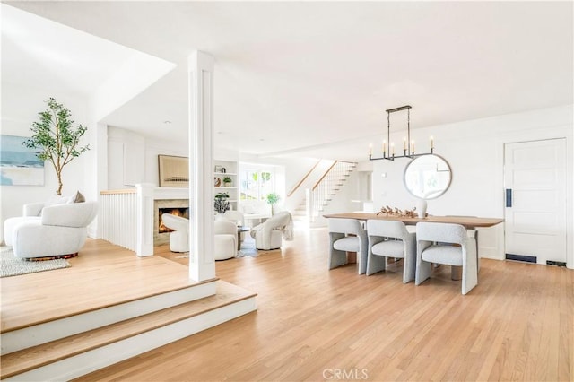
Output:
M76 124L88 126L87 101L80 96L62 94L57 91L40 91L38 89L15 86L9 82L2 82L2 134L30 136L32 122L38 120L38 113L47 109L46 100L54 97L63 103L72 112ZM87 138L88 135L84 137ZM85 144L87 142L83 142ZM62 195L72 195L76 191L85 193L84 173L86 158L82 156L74 159L65 166L62 172L64 187ZM55 195L57 190L56 172L50 162L44 163L44 186L1 186L2 207L0 208L0 221L4 227L4 221L13 216L22 216L22 205L33 202L42 202L50 195ZM4 230L1 230L4 240Z

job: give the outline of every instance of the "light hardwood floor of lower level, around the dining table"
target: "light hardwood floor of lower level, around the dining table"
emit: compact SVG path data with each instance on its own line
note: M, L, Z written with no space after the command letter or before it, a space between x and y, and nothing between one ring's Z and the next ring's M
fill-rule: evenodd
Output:
M448 266L418 287L400 262L327 271L326 230L296 235L217 262L257 291L257 312L78 380L574 380L574 271L483 259L463 296Z

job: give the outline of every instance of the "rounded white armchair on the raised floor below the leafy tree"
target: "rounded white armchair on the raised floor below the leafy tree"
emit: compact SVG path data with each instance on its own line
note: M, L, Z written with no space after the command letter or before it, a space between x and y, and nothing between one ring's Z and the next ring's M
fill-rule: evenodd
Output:
M22 258L77 254L88 237L88 225L98 213L97 202L43 205L26 204L24 216L4 222L6 245Z

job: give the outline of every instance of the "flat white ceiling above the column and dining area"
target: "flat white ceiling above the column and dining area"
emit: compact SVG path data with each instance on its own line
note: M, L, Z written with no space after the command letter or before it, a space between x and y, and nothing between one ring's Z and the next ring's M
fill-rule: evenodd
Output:
M152 137L185 139L187 56L213 55L220 149L358 161L386 129L385 109L412 105L417 128L574 102L570 1L5 4L177 64L104 119ZM70 48L98 63L85 83L69 76L76 87L122 56Z

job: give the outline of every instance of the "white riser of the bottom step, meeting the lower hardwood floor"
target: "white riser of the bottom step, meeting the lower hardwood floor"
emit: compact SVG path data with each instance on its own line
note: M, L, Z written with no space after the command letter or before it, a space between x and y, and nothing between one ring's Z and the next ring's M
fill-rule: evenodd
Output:
M70 380L92 371L113 365L121 360L135 357L143 352L172 343L189 335L199 333L210 327L220 325L233 318L243 316L257 309L255 297L241 300L222 308L216 308L204 314L189 317L169 326L110 343L89 352L74 355L65 360L33 369L5 381L30 380Z

